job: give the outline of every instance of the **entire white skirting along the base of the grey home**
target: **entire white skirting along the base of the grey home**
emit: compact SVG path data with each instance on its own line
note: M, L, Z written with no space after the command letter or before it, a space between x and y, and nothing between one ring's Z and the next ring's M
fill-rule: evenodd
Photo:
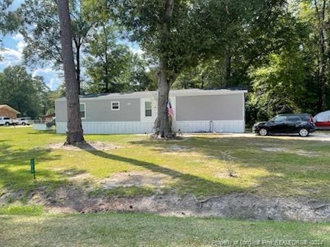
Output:
M234 132L243 133L245 131L245 121L176 121L176 131L181 132ZM85 134L143 134L153 132L153 122L124 121L83 121ZM56 122L56 132L65 133L67 122Z

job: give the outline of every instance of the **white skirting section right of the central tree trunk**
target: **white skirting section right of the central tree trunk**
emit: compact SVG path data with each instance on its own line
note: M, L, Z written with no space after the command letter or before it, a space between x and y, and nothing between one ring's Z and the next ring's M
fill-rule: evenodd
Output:
M225 121L177 121L176 130L180 132L233 132L245 131L244 120Z

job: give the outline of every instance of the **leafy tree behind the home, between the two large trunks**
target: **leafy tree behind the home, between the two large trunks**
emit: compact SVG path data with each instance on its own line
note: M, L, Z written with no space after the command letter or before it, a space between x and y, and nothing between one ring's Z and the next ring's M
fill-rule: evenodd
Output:
M90 93L114 93L143 91L150 87L146 75L146 62L133 54L127 45L118 44L118 30L112 24L103 23L89 38L84 64Z

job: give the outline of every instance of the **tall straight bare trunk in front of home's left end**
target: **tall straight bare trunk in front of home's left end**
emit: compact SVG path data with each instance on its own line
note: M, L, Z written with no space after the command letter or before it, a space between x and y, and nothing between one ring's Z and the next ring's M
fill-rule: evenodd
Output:
M68 0L58 0L58 16L61 27L61 44L65 86L67 93L67 142L76 145L84 141L80 118L80 102L76 71L74 66L74 51L72 49L72 27L69 16Z

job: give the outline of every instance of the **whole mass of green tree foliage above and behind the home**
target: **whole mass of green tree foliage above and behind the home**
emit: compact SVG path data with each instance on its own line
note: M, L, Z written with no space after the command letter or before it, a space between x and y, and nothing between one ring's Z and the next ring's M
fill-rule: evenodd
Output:
M10 0L3 3L0 32L13 30L21 17L20 32L28 44L25 61L61 64L56 2L25 0L19 15L8 14ZM248 121L330 107L328 2L324 21L319 0L175 0L170 20L164 0L72 0L70 8L75 50L81 48L83 55L76 56L76 64L83 57L86 92L157 89L162 60L174 89L248 88ZM131 51L126 38L140 45L143 56Z

